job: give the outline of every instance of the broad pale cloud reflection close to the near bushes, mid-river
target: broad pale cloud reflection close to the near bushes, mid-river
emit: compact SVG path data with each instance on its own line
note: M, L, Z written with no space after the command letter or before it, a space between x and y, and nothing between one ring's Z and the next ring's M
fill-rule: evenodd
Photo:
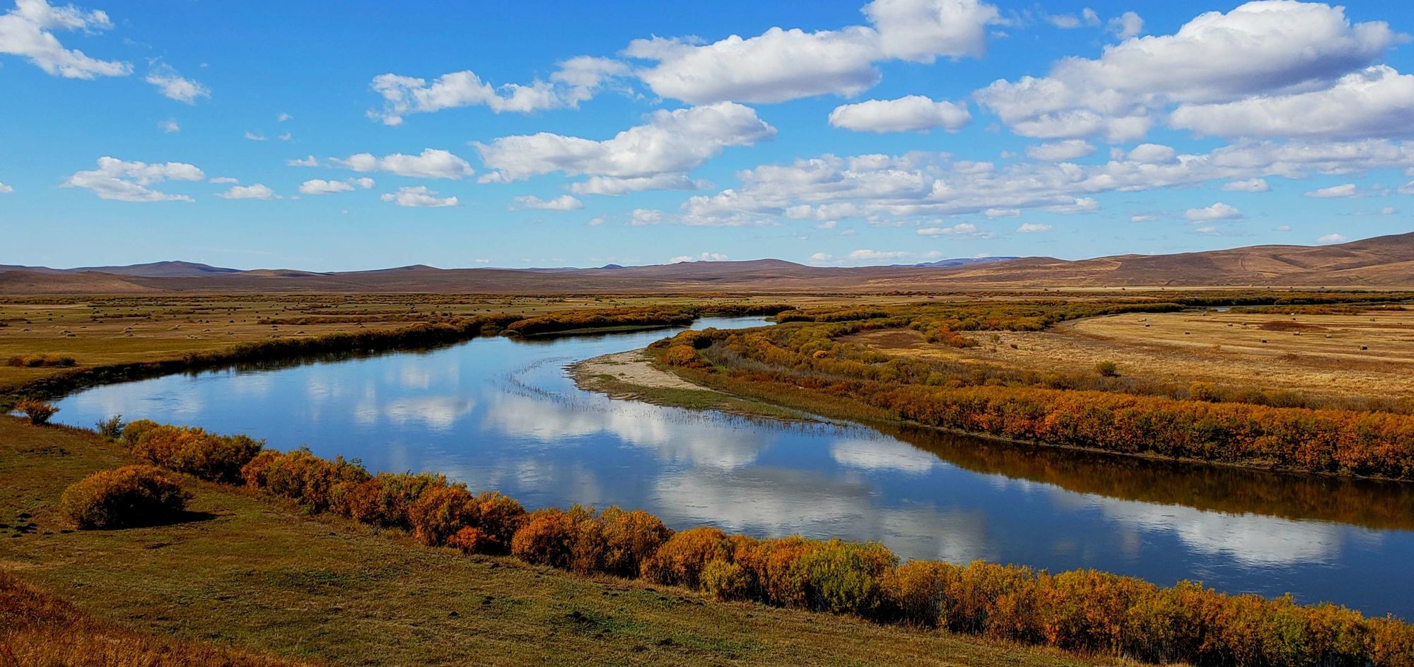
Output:
M867 483L783 468L682 471L655 483L662 517L677 526L711 523L731 531L884 541L905 558L967 562L988 555L986 520L928 504L877 504Z

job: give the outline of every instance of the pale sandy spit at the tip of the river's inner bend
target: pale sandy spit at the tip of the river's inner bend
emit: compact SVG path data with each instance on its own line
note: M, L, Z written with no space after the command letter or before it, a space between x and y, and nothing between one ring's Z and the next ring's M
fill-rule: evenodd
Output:
M742 399L687 382L653 363L646 349L615 352L566 366L574 386L609 399L636 400L689 410L715 410L741 417L817 421L817 417L783 406Z

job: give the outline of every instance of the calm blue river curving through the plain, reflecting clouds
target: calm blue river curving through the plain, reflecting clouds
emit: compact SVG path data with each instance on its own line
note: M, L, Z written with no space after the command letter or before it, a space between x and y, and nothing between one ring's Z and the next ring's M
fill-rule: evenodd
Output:
M759 318L697 328L758 326ZM1414 619L1414 485L1307 479L781 424L609 400L564 366L672 331L180 374L89 389L57 421L201 425L434 471L527 507L645 509L682 529L878 540L906 558L1099 568Z

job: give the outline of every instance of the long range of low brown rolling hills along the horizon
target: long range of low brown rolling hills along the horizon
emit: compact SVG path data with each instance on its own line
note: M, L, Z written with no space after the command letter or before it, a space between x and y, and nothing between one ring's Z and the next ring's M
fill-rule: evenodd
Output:
M880 293L1042 287L1414 287L1414 232L1333 246L1250 246L1089 260L987 257L913 266L810 267L785 260L598 268L373 271L221 268L187 261L126 267L0 266L0 294L188 293Z

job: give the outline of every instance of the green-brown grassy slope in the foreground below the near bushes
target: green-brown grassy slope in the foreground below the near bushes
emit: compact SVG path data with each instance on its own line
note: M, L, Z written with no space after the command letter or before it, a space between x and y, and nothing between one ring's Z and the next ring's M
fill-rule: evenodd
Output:
M1094 664L430 550L195 480L204 520L66 533L62 489L126 462L88 431L0 418L0 567L100 620L334 664Z

